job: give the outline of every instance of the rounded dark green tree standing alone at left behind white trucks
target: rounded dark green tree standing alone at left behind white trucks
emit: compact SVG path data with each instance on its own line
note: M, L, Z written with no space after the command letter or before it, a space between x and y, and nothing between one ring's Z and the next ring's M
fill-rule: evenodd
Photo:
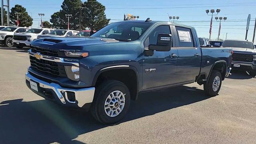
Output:
M16 4L13 8L11 8L11 12L10 12L11 24L17 25L17 16L15 15L16 12L20 13L19 26L22 26L22 27L32 26L33 19L28 15L28 12L26 12L26 8L18 4Z

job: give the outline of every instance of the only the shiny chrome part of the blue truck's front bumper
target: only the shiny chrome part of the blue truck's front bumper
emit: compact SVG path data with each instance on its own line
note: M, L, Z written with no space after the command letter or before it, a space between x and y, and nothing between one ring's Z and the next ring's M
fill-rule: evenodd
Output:
M60 100L62 105L75 104L78 107L82 108L82 106L84 106L85 104L91 103L94 97L94 87L82 89L63 88L59 84L48 83L39 80L38 78L32 76L29 72L26 73L25 78L26 80L28 80L28 82L30 82L30 80L36 82L38 84L38 87L40 88L53 90L56 96L58 96L57 99ZM67 92L74 92L75 101L70 101L68 99Z

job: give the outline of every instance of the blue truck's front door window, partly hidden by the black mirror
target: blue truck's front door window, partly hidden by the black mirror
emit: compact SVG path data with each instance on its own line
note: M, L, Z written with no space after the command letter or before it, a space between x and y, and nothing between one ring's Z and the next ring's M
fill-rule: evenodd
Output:
M148 38L144 42L144 47L148 48L150 44L156 44L157 43L157 37L158 34L171 34L170 26L163 25L156 27L148 36Z

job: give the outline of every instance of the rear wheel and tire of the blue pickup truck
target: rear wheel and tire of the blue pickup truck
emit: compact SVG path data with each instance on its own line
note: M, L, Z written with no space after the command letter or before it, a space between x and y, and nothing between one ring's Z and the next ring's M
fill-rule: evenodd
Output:
M216 82L216 80L218 82ZM215 86L214 86L215 81ZM222 84L222 76L219 71L213 70L209 80L204 84L204 92L207 96L217 96ZM218 85L218 86L217 86Z

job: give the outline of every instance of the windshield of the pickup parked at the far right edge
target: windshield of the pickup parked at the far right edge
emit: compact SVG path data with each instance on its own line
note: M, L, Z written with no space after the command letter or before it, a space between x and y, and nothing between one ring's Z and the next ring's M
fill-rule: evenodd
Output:
M254 49L254 45L252 42L245 42L245 41L238 41L238 40L225 40L222 47Z

